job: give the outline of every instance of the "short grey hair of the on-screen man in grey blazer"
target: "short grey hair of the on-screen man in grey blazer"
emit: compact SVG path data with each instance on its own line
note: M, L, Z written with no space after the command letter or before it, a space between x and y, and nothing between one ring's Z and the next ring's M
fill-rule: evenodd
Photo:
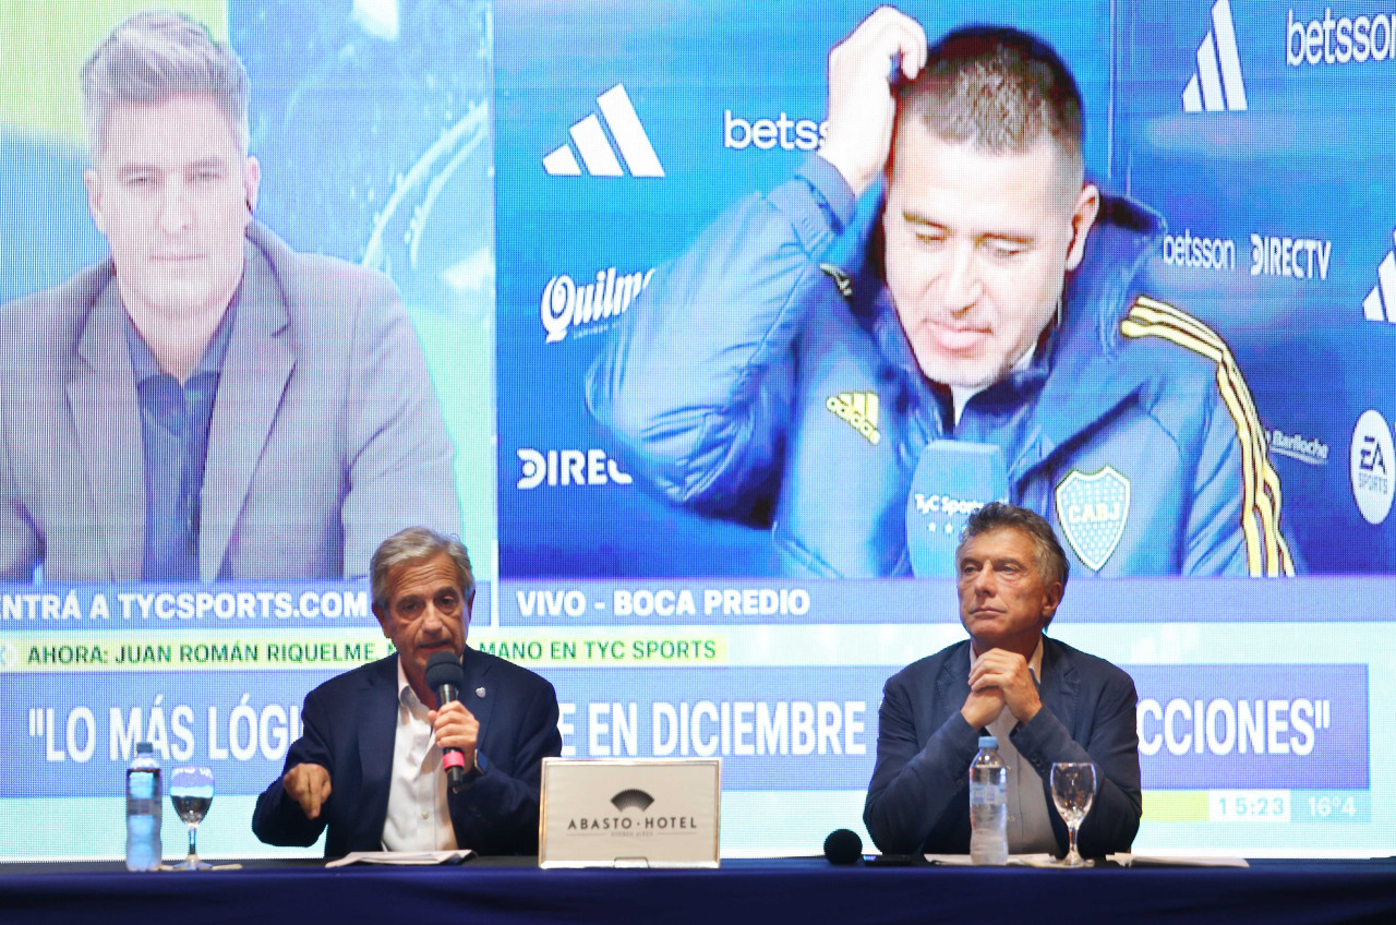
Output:
M147 10L127 17L82 66L82 123L95 161L117 106L148 106L184 94L211 98L247 152L247 68L181 13Z

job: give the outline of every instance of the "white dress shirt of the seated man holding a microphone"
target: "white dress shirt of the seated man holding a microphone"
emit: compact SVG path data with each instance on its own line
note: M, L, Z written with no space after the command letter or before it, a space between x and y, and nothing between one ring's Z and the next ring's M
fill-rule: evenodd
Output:
M455 829L445 798L441 746L431 735L427 707L417 699L398 660L398 732L392 741L392 782L383 823L387 851L454 851Z

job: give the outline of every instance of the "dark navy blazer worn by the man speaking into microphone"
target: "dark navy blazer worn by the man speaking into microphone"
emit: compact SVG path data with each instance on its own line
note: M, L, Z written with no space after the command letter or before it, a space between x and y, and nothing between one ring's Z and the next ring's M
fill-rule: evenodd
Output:
M461 700L480 722L477 748L489 769L448 795L456 844L480 854L535 854L542 763L563 748L553 685L466 647ZM318 819L306 819L278 777L257 798L253 833L267 844L306 847L328 826L325 857L381 851L398 722L398 657L320 685L306 696L302 720L304 735L292 743L285 770L303 762L322 764L329 770L329 799Z

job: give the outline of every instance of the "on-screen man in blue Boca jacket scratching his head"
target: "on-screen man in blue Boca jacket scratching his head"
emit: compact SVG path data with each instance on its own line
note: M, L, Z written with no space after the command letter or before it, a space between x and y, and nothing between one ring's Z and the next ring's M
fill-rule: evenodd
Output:
M1160 233L1086 182L1055 52L988 27L927 48L881 7L829 54L819 154L656 272L591 408L673 502L769 524L792 574L910 571L912 474L941 439L1001 447L1012 500L1086 573L1293 574L1230 349L1136 291Z

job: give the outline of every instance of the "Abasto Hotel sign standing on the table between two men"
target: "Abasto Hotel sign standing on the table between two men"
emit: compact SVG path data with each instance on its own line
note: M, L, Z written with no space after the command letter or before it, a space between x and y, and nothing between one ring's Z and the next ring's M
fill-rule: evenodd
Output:
M543 759L540 868L716 868L722 759Z

